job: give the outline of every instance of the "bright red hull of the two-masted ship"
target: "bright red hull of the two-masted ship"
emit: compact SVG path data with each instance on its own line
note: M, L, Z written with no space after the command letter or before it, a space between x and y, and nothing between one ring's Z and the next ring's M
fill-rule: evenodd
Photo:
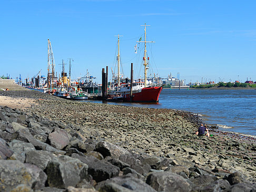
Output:
M125 94L123 101L124 102L158 103L159 95L162 91L162 88L163 88L162 86L142 88L141 92L132 94L132 99L130 99L130 94Z

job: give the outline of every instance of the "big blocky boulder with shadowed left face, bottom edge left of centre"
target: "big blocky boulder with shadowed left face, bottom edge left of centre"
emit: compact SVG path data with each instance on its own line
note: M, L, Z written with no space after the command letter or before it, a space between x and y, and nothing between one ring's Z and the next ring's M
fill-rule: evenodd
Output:
M87 177L88 166L80 160L66 155L58 156L47 165L46 174L50 187L75 187L80 180Z

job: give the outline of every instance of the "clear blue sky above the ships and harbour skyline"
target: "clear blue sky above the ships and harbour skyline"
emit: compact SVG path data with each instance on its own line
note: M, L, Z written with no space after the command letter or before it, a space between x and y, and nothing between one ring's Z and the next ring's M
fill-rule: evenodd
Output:
M130 76L146 23L147 40L156 42L148 52L155 74L179 72L186 83L202 77L234 81L238 75L255 81L255 7L253 0L2 0L0 75L24 79L40 69L46 75L49 38L57 72L62 59L73 58L72 78L88 69L100 83L101 69L114 68L114 35L120 34L123 70Z

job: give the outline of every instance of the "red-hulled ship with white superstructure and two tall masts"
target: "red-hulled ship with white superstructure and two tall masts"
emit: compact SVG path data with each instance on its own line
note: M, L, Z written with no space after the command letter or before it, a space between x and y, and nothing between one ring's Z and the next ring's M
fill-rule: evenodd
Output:
M144 48L144 57L143 57L143 65L144 65L144 82L139 80L131 83L120 83L120 53L119 53L119 35L118 35L118 54L117 54L117 61L118 61L118 74L117 74L117 82L114 83L114 86L109 89L109 95L107 98L115 98L115 96L119 95L120 99L122 96L122 100L124 102L148 102L148 103L158 103L159 102L159 95L162 91L162 86L154 86L152 82L147 80L147 69L149 68L149 57L146 56L146 43L154 43L154 42L147 42L146 41L146 26L149 25L142 25L145 27L144 34L145 34L145 41L139 41L139 43L145 43ZM131 84L132 84L132 97L130 96L131 93ZM114 99L112 99L114 100Z

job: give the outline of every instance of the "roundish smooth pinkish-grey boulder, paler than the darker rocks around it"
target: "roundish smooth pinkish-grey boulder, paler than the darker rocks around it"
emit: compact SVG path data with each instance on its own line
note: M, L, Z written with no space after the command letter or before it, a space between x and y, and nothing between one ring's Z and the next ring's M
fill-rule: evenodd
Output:
M55 131L48 135L48 139L51 145L57 149L63 149L70 143L68 134L60 128L55 128Z

